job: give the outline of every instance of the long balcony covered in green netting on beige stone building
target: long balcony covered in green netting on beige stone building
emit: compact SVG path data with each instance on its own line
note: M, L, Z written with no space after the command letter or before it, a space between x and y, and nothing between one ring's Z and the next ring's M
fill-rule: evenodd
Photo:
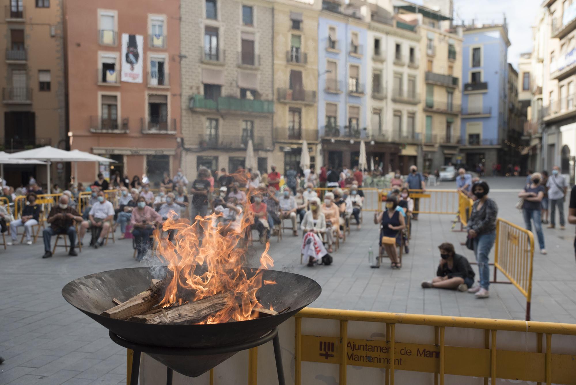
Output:
M274 114L274 101L219 97L217 100L204 99L203 95L193 95L189 102L193 111L219 111L238 114Z

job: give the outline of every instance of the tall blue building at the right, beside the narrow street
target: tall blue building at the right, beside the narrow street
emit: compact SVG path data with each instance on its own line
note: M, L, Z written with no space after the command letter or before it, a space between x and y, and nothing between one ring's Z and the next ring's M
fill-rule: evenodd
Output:
M467 28L462 55L461 149L468 168L502 163L507 136L508 60L506 25Z

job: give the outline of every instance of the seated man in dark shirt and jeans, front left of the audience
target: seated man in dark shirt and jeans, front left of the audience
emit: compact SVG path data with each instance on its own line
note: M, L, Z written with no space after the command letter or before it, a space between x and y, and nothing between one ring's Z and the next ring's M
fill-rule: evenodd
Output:
M44 255L42 258L50 258L52 256L50 239L58 234L66 234L70 239L70 251L68 252L68 255L78 255L74 251L76 239L76 227L74 224L76 222L81 222L82 217L75 209L73 209L72 206L70 206L69 202L70 197L68 197L67 194L62 194L58 201L58 206L52 207L48 214L48 219L46 221L50 224L50 227L44 229L42 232L42 236L44 237Z

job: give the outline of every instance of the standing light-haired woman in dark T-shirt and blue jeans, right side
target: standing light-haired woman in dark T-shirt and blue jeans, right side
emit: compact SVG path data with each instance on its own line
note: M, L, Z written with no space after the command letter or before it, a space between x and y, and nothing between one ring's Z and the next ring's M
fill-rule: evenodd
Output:
M540 253L546 254L546 249L544 247L544 232L542 231L541 222L541 202L544 198L544 186L540 184L542 175L539 172L532 173L532 183L527 184L524 190L518 194L518 198L524 198L524 203L522 204L522 214L524 215L524 224L526 225L526 230L532 231L532 224L530 221L534 222L534 227L536 229L536 235L538 236L538 243L540 246ZM554 206L553 206L554 207ZM554 217L550 217L550 221L554 223ZM564 217L561 217L564 220Z

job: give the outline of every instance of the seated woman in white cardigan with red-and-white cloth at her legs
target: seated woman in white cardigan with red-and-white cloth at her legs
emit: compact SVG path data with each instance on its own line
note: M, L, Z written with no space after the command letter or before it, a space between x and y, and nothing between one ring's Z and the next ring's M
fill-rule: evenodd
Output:
M308 258L308 266L320 262L328 252L322 243L322 234L326 232L326 217L320 210L320 199L312 198L308 202L310 210L302 220L301 228L304 232L302 238L302 255Z

